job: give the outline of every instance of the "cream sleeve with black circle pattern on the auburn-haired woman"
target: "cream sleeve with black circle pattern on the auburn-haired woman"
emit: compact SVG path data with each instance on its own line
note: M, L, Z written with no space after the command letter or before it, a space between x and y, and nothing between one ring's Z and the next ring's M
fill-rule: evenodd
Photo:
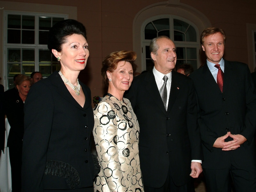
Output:
M107 102L100 102L95 107L93 136L101 171L108 188L112 191L126 191L127 187L119 159L120 151L117 146L118 117L115 110Z

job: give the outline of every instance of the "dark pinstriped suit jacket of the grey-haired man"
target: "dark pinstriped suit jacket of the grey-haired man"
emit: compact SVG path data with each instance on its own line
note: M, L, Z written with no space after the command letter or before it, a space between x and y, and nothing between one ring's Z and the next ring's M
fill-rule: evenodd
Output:
M176 185L186 184L191 160L202 159L192 80L172 72L167 112L152 71L135 77L125 97L131 101L140 125L139 156L144 184L163 186L169 168Z

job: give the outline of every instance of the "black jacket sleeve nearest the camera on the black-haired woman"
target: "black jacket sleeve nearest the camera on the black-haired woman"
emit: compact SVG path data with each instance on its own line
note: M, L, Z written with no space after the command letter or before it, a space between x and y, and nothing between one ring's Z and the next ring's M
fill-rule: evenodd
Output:
M43 175L52 129L54 102L45 84L33 85L24 105L22 190L43 191Z

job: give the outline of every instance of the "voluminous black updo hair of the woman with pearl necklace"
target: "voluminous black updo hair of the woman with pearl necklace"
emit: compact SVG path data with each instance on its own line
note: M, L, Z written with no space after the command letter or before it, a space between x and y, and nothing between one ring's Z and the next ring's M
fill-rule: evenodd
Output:
M67 37L73 34L83 35L86 39L86 29L77 20L62 20L53 25L48 34L48 49L50 52L52 53L52 49L61 52L62 44L66 43Z

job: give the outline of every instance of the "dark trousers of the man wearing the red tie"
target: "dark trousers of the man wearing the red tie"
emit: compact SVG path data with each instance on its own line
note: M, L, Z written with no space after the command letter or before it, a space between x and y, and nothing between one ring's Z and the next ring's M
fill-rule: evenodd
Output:
M239 167L235 162L225 169L203 169L207 192L227 192L230 191L231 175L234 188L237 192L256 191L256 167L254 165L244 165Z

